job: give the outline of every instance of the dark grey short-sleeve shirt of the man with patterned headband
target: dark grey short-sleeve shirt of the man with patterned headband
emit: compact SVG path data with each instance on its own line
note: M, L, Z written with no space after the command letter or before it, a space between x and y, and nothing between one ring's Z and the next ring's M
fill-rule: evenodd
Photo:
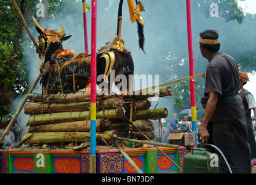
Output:
M235 94L240 89L239 70L234 58L225 53L218 53L211 58L206 70L206 83L204 95L209 92L218 92L221 96ZM244 116L242 100L232 103L217 102L210 121L228 121Z

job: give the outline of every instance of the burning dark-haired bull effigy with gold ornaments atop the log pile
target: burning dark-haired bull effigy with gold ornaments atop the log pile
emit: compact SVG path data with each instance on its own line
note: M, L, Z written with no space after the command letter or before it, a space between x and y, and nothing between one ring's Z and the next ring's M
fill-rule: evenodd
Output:
M91 56L87 53L75 55L73 51L64 49L62 43L70 36L65 36L62 25L61 31L57 32L56 29L43 29L35 18L34 23L40 34L38 42L42 53L42 94L68 93L90 87ZM123 47L122 40L118 38L97 54L97 76L105 76L97 83L105 82L110 87L111 70L115 71L115 77L125 75L127 79L134 71L130 51ZM131 83L127 83L126 89L129 89L129 84Z

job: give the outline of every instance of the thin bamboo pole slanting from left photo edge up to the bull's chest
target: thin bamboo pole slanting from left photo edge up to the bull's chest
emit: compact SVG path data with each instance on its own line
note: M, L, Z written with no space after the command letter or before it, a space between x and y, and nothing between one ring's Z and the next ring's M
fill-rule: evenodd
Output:
M2 143L3 138L5 138L5 135L9 132L9 129L12 127L14 121L17 119L17 117L19 116L21 109L23 108L23 106L25 105L25 102L27 101L28 97L30 96L31 92L34 90L36 84L39 82L39 80L41 79L41 73L38 75L38 77L36 78L34 84L32 85L32 87L30 88L30 90L28 91L28 93L25 95L25 98L23 99L23 101L21 102L17 112L14 114L12 120L10 120L10 123L8 124L8 126L5 128L5 130L3 131L3 134L0 137L0 143Z

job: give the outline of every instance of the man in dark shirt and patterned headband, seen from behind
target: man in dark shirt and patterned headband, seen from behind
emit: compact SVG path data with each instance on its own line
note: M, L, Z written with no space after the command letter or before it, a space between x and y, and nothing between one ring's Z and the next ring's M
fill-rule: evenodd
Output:
M219 52L218 33L206 30L200 33L200 51L207 58L204 96L209 97L202 123L198 129L198 139L202 144L217 146L228 161L233 173L250 173L250 146L240 89L239 70L236 61ZM220 173L229 173L221 154Z

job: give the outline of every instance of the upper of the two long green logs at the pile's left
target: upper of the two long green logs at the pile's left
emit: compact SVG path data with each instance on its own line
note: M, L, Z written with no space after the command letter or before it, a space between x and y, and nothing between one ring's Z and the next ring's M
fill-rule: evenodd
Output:
M100 110L96 113L97 119L120 119L123 117L122 109ZM90 111L83 112L61 112L52 114L36 114L30 116L27 125L43 125L70 121L90 120Z

